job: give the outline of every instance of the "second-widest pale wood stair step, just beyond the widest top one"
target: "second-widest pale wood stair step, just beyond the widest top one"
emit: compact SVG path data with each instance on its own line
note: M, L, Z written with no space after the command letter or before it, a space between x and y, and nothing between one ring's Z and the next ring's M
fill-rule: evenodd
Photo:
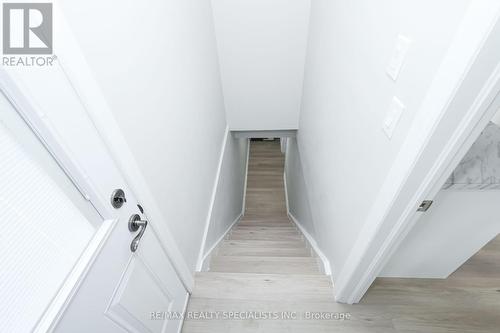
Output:
M215 256L211 272L321 274L318 260L309 257Z

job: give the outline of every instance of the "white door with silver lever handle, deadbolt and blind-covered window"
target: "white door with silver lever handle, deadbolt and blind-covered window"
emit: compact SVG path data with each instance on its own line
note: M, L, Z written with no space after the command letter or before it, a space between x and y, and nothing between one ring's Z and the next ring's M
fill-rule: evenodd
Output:
M0 88L0 331L178 332L187 290L64 70Z

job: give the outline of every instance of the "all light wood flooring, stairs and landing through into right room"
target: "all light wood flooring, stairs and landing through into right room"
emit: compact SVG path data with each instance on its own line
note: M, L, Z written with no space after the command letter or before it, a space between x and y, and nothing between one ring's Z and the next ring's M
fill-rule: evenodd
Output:
M334 302L287 217L283 164L279 142L252 142L245 216L197 273L183 332L500 332L500 239L446 280L378 279Z

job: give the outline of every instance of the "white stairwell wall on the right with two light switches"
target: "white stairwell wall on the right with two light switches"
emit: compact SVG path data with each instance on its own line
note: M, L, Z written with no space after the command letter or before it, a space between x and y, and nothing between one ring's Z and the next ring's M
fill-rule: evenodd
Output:
M312 2L298 146L317 242L334 278L369 223L368 212L469 2ZM398 34L412 45L393 82L385 68ZM389 140L382 124L393 96L407 109Z

